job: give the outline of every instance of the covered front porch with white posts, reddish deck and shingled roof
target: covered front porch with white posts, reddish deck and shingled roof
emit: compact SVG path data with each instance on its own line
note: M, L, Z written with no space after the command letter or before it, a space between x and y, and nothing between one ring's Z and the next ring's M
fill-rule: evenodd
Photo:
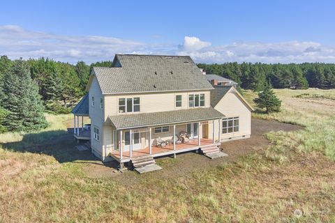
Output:
M167 112L158 112L167 113ZM187 151L196 151L207 146L218 146L221 141L220 132L215 132L215 122L221 125L223 114L212 108L179 110L168 112L171 122L167 120L156 120L156 116L164 117L162 114L132 114L109 117L115 130L112 133L113 144L109 155L115 160L129 162L135 157L151 155L158 157L163 155L175 155ZM176 115L176 116L173 116ZM172 118L171 118L172 117ZM176 117L176 118L174 118ZM122 118L122 119L121 119ZM129 128L124 119L131 122L142 121L143 124ZM148 121L156 124L148 125ZM173 120L173 121L172 121ZM120 121L120 122L118 122ZM209 122L212 122L212 136L208 135ZM145 126L147 124L147 126ZM122 126L125 125L125 126ZM220 129L220 128L218 128ZM161 133L158 131L161 130ZM165 132L164 132L165 130ZM186 132L188 139L180 140L179 134ZM207 132L207 133L206 133ZM217 134L217 136L216 136ZM142 140L142 141L141 141ZM158 143L163 141L163 144Z

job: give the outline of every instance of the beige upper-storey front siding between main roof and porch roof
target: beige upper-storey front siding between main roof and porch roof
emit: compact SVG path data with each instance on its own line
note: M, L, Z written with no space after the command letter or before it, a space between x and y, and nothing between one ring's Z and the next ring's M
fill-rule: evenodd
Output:
M140 112L168 112L177 109L188 109L188 95L191 93L204 93L204 107L210 106L209 91L190 91L190 92L172 92L172 93L142 93L131 95L105 95L105 120L107 116L119 115L119 98L140 98ZM181 107L175 107L176 95L181 95ZM124 114L121 114L124 115Z

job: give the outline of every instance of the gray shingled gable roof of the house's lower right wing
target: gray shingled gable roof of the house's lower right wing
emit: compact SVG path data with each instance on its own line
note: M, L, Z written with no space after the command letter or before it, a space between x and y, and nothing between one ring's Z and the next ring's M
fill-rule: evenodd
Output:
M237 93L237 96L241 99L242 102L253 111L253 107L244 99L244 97L237 91L234 86L214 86L214 89L211 90L211 107L216 107L218 102L230 91L230 89L234 89L234 92Z

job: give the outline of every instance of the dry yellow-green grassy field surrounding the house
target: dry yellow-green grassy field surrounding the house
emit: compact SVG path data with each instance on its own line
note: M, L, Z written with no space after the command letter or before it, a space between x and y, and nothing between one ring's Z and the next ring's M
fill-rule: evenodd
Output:
M0 134L0 222L335 222L335 91L276 93L282 112L253 116L304 130L269 132L257 153L184 176L87 176L91 155L64 152L74 146L71 116Z

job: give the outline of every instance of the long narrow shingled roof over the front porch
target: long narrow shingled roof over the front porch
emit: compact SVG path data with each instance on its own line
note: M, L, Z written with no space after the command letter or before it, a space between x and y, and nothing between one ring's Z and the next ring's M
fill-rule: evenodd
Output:
M172 125L177 123L188 123L193 121L207 121L224 117L212 107L197 109L182 109L170 112L154 112L142 114L129 114L119 116L108 116L117 130L127 128L143 128L158 125Z

